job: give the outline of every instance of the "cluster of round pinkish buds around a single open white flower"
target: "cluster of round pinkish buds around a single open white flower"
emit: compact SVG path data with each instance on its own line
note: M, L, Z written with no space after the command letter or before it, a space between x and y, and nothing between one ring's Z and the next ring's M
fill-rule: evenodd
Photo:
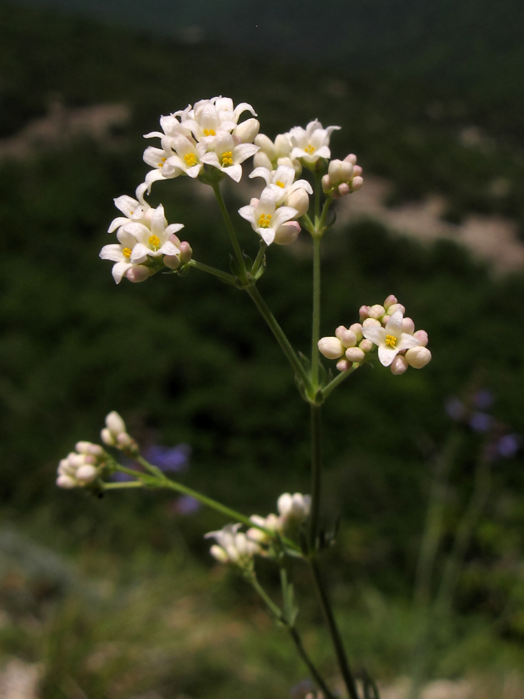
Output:
M393 374L403 374L409 366L420 369L431 360L426 347L428 333L415 331L414 322L404 317L405 312L393 295L386 298L384 305L363 305L361 322L349 328L341 325L335 337L321 338L319 352L327 359L338 359L337 369L347 371L350 366L360 365L377 345L380 363L389 366Z

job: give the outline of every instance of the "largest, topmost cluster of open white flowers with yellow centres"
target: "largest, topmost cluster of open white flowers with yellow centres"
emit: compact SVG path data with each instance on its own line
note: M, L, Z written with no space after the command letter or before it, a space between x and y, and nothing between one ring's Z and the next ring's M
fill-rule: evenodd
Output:
M233 106L229 97L212 97L188 105L160 119L162 132L152 131L145 138L160 138L161 147L147 147L144 160L153 169L147 173L148 191L156 180L187 175L197 178L209 165L235 182L242 177L242 163L259 146L253 140L260 124L254 118L238 123L242 113L256 113L250 104Z

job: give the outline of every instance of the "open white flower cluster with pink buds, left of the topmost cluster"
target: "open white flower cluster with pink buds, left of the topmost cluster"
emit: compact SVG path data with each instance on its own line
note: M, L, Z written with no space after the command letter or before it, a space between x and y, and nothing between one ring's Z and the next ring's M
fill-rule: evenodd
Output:
M163 267L175 270L191 259L191 245L176 236L184 225L168 225L163 206L152 208L145 201L146 186L145 182L138 185L137 199L126 194L115 199L124 216L113 219L108 233L117 231L119 242L104 245L100 257L116 263L112 275L117 284L124 276L130 282L143 282Z

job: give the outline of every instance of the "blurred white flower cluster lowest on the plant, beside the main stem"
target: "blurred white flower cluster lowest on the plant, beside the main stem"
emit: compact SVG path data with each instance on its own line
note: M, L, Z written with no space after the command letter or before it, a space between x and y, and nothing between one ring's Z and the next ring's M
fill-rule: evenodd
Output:
M217 541L210 553L221 563L232 563L240 568L252 567L255 555L271 556L271 545L282 536L293 536L310 516L311 497L302 493L282 493L277 500L277 514L260 517L252 514L249 519L256 526L246 533L239 532L241 524L226 524L219 531L211 531L205 538L214 537ZM265 531L264 531L265 530Z

